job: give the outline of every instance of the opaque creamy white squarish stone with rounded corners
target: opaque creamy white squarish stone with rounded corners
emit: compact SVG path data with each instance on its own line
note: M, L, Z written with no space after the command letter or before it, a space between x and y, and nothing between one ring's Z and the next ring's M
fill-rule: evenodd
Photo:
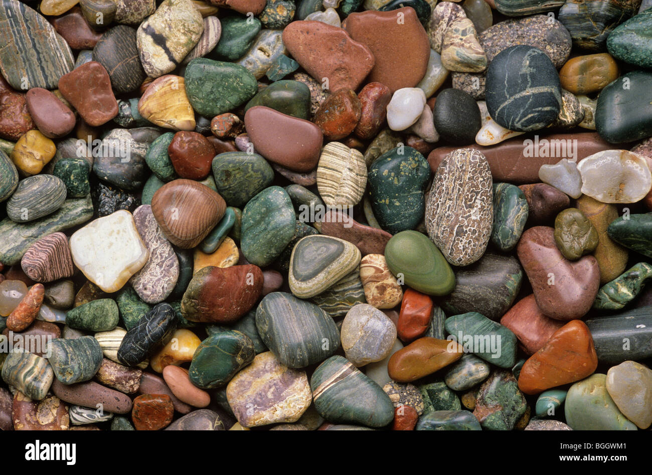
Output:
M142 268L149 251L129 211L98 218L70 236L72 260L104 292L117 292Z

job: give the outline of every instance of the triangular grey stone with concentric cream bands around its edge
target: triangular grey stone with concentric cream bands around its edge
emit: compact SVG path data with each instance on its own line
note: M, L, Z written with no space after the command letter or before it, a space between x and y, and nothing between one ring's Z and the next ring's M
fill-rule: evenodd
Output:
M290 289L299 298L316 296L357 268L360 259L359 249L348 241L331 236L306 236L291 254Z

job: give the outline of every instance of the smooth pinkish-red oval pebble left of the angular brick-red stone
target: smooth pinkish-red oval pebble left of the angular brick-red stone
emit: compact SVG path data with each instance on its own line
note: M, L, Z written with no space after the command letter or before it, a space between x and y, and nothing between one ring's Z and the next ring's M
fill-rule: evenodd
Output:
M48 138L63 137L75 127L75 115L61 100L41 87L33 87L25 95L27 110L38 130Z

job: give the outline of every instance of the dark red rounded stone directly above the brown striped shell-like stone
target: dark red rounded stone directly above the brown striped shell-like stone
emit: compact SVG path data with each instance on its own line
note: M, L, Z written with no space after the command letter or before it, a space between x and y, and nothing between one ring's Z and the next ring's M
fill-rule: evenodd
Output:
M181 178L203 180L211 173L215 148L205 136L181 130L174 134L168 146L168 155Z

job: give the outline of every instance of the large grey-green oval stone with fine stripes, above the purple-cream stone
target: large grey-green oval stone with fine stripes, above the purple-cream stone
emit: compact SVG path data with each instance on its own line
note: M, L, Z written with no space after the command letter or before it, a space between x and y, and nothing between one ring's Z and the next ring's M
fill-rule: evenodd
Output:
M329 314L284 292L263 298L256 310L256 328L278 361L291 368L323 361L340 344L338 329Z

